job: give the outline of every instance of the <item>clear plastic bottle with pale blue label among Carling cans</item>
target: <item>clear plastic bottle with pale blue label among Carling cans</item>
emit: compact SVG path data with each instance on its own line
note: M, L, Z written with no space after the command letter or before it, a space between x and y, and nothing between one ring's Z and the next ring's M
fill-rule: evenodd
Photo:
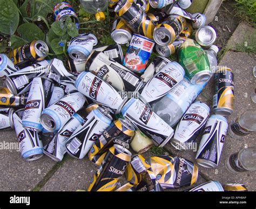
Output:
M171 127L175 126L206 84L193 85L184 78L167 95L152 105L153 112Z

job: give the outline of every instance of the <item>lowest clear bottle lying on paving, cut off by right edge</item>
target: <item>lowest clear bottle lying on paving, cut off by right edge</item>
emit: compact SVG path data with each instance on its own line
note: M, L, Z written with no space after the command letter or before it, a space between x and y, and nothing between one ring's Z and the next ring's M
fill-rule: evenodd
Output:
M232 173L256 171L256 147L244 148L228 156L225 165Z

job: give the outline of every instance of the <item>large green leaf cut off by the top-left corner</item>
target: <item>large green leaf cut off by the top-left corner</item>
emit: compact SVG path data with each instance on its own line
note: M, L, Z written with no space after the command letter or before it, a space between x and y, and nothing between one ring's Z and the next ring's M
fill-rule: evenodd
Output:
M13 1L0 0L0 32L14 34L19 24L19 11Z

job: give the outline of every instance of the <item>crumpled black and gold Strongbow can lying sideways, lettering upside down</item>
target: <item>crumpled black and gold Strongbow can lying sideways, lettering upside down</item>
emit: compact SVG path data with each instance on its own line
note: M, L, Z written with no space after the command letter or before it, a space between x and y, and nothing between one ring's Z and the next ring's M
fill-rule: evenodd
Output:
M197 182L198 166L181 157L154 156L150 165L158 183L165 188L176 189Z

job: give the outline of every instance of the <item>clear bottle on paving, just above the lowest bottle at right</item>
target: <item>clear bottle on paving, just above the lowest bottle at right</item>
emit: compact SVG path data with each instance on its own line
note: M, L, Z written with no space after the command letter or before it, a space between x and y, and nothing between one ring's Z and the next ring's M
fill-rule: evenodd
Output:
M228 134L233 138L242 138L253 131L256 131L256 110L254 109L246 110L228 126Z

